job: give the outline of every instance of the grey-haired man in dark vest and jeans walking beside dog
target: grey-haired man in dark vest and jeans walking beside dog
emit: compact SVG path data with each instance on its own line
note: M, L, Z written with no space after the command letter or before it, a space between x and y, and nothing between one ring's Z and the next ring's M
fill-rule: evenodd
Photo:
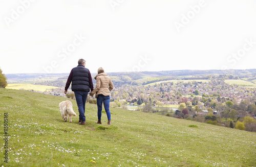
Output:
M78 60L78 66L74 67L69 75L66 83L64 93L67 94L67 90L72 82L71 89L75 92L76 103L79 111L79 124L86 125L86 99L88 92L93 90L93 81L90 70L85 67L86 61L83 59Z

